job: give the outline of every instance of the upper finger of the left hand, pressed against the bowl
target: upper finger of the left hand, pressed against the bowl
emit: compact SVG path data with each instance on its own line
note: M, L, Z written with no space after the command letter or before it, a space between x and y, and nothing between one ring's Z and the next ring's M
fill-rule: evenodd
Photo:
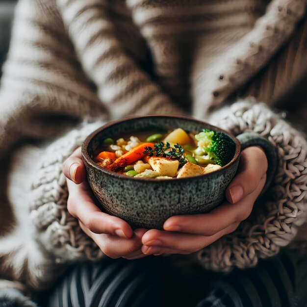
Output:
M94 233L107 233L122 238L132 236L132 229L127 222L102 212L93 203L86 182L77 185L67 180L67 186L69 189L68 211L77 217L86 228Z

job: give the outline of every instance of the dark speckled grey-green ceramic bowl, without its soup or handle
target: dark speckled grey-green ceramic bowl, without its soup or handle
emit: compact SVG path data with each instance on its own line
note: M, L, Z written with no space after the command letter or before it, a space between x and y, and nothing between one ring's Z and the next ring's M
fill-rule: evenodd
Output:
M183 128L200 132L204 128L222 131L235 143L232 160L222 169L203 176L180 179L137 179L108 171L92 160L105 138L151 126ZM241 145L230 133L182 116L130 117L109 123L90 134L82 145L87 178L101 209L127 221L133 228L161 229L173 215L205 213L220 205L225 189L234 177Z

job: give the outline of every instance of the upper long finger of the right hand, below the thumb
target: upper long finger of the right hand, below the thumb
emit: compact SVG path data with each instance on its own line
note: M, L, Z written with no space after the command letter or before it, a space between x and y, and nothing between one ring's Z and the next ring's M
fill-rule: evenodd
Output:
M205 214L172 216L164 223L163 229L211 236L235 222L245 220L252 212L253 205L265 184L265 177L260 180L256 190L236 204L224 203ZM145 238L155 239L145 234ZM143 238L144 239L144 238ZM144 242L143 242L144 244Z

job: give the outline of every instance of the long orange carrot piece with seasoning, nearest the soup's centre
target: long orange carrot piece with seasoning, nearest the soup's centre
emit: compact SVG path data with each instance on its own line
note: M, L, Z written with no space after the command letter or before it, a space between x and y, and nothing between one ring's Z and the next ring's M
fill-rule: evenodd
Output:
M128 151L128 153L125 153L119 158L117 158L114 163L109 165L107 168L111 171L117 172L123 167L126 167L127 165L135 162L136 160L140 160L143 156L146 155L146 153L143 153L145 151L145 147L153 148L153 145L154 143L140 144Z

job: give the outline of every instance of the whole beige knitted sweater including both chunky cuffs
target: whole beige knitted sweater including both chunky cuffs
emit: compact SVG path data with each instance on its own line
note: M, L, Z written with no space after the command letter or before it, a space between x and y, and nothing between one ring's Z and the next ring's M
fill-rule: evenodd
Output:
M0 277L41 289L59 266L103 256L67 211L61 166L92 130L131 114L190 114L278 148L252 215L194 255L205 268L249 267L288 245L306 221L307 142L257 99L274 106L306 68L306 3L20 0L0 88ZM243 85L254 99L230 100Z

